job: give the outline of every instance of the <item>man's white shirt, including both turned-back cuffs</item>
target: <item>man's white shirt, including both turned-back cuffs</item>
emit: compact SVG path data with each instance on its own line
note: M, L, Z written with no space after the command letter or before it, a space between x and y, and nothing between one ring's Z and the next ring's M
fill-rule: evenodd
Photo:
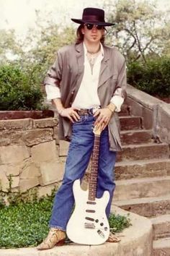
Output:
M94 62L94 67L91 72L91 66L89 60L87 59L87 49L84 44L84 76L81 81L81 85L76 98L72 103L73 107L76 108L93 108L100 106L99 96L97 93L98 83L99 83L99 72L101 67L101 62L104 57L104 50L102 44L100 44L100 53ZM51 85L45 85L45 90L47 93L47 99L52 100L55 98L61 98L60 89ZM116 106L115 111L119 112L124 101L121 97L122 89L118 88L115 90L112 96L111 103Z

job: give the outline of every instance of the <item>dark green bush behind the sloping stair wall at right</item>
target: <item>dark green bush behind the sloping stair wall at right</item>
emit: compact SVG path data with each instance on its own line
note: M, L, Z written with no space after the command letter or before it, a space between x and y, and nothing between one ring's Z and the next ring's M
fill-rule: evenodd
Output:
M160 97L170 96L170 58L140 61L128 65L128 83L139 90Z

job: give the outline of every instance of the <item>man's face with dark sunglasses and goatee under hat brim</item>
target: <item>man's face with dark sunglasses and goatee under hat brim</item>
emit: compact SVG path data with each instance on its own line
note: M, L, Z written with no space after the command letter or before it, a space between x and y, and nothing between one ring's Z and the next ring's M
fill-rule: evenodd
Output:
M102 35L104 35L104 27L98 25L84 24L81 29L84 34L84 41L88 43L99 43Z

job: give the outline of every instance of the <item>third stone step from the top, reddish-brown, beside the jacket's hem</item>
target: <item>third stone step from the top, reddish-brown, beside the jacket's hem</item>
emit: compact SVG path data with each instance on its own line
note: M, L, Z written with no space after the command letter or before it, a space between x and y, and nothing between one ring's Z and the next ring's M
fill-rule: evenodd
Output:
M152 142L152 130L137 129L120 132L122 145Z

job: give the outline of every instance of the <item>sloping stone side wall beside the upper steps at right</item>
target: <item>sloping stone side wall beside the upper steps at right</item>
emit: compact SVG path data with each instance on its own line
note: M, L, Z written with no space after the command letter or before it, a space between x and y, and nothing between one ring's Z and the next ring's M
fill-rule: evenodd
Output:
M153 130L155 142L170 145L170 104L128 85L130 114L143 116L143 126Z

